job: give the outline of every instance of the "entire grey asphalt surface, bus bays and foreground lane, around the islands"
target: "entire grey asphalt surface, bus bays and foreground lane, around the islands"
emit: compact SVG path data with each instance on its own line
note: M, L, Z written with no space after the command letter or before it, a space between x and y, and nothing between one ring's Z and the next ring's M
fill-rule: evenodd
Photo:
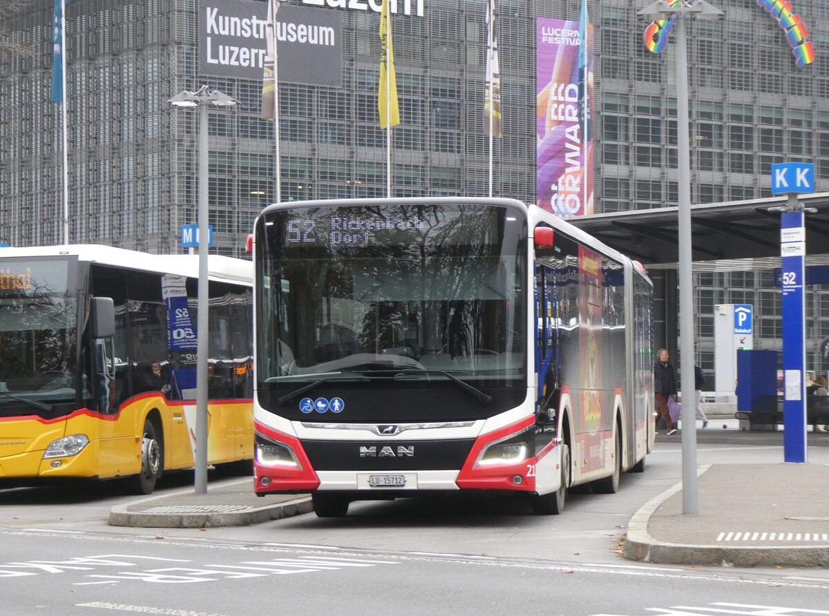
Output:
M777 463L782 454L701 446L698 463ZM829 448L809 459L829 463ZM520 498L455 495L206 531L107 526L109 509L131 498L113 486L4 490L0 613L829 616L824 570L623 560L628 518L680 478L680 446L660 444L617 494L573 494L557 517L534 516ZM191 481L179 473L162 490Z

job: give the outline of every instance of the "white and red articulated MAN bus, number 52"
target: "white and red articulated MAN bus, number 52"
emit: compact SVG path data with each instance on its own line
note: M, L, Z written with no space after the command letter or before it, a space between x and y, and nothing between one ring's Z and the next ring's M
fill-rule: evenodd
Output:
M292 201L254 234L255 492L616 492L654 438L652 284L536 206Z

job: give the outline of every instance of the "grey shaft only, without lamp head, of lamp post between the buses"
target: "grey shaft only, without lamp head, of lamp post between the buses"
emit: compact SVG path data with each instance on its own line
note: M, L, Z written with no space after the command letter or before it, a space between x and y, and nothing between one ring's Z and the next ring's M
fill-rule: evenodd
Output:
M198 338L196 344L196 494L207 493L207 110L210 103L199 99L199 284Z

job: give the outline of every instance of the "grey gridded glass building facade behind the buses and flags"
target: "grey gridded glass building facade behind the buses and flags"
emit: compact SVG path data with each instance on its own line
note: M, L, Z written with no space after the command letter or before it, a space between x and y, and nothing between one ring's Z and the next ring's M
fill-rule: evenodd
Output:
M393 15L401 124L392 130L395 195L486 195L483 134L487 0L423 0ZM240 101L209 116L209 207L216 251L244 255L263 206L281 200L385 196L378 126L378 0L288 0L341 11L342 88L282 83L280 196L274 127L261 84L198 74L196 0L70 0L68 177L72 243L182 251L196 221L198 114L167 100L209 85ZM676 205L675 48L647 51L646 2L588 0L594 24L595 211ZM720 22L689 26L691 200L768 195L772 162L816 163L829 190L829 3L793 0L817 52L797 68L786 33L756 0L711 0ZM417 0L411 0L415 6ZM342 5L342 7L338 7ZM503 138L493 193L536 199L536 17L578 21L580 0L497 0ZM61 105L50 102L51 2L21 2L0 22L0 242L62 241ZM413 13L416 13L412 11ZM755 348L778 345L779 293L766 272L697 274L698 353L713 367L712 303L755 306ZM820 288L809 308L816 337ZM767 340L768 338L768 340ZM774 340L773 340L774 338ZM764 342L766 341L766 342ZM768 346L767 346L768 347ZM817 358L816 358L817 361Z

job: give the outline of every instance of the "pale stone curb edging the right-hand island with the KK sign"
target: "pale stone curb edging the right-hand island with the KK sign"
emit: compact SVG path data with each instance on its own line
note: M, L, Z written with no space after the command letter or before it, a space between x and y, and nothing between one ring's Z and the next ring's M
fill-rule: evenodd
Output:
M699 469L697 477L710 468ZM781 546L781 547L721 547L696 546L657 541L647 532L651 516L676 492L682 483L669 487L665 492L646 502L628 522L623 556L628 560L660 565L717 565L722 567L827 567L829 547Z

